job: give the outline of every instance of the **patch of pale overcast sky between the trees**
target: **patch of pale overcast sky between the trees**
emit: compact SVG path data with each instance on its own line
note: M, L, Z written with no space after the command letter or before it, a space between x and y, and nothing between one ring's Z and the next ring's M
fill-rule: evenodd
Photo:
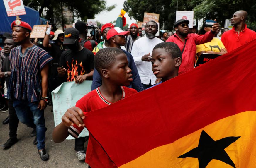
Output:
M111 21L113 22L114 20L116 20L116 18L121 12L121 9L123 9L123 2L124 2L124 0L106 0L106 1L107 1L107 6L116 4L116 8L114 8L110 12L104 11L99 13L98 15L95 15L95 21L98 20L103 24L109 23ZM125 14L125 17L126 17L126 23L128 23L129 25L131 25L132 23L136 23L136 20L131 19L128 16L128 13Z

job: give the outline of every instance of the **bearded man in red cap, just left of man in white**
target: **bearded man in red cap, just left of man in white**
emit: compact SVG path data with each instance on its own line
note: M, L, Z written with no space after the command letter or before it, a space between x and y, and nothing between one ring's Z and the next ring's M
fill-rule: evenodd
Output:
M139 36L138 31L139 31L138 25L136 25L135 23L132 23L130 25L131 34L126 36L126 44L124 46L126 48L126 51L128 51L129 53L131 53L132 51L133 43L139 38L141 38Z

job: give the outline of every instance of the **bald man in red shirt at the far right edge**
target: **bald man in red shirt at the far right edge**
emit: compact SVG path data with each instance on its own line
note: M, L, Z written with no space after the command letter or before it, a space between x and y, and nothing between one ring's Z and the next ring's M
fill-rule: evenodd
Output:
M228 52L256 39L256 32L248 29L245 24L247 15L246 11L236 11L231 18L233 28L221 36L221 41Z

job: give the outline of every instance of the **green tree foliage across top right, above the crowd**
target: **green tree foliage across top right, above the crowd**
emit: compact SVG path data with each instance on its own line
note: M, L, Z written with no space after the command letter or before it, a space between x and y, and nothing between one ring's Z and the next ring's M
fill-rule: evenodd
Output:
M144 12L160 14L160 27L165 23L165 29L172 30L176 18L177 0L126 0L124 10L129 16L143 21ZM250 6L250 8L248 8ZM254 0L178 0L178 10L194 10L195 19L216 19L224 26L225 19L230 19L235 11L245 10L249 17L247 25L255 29L256 4Z

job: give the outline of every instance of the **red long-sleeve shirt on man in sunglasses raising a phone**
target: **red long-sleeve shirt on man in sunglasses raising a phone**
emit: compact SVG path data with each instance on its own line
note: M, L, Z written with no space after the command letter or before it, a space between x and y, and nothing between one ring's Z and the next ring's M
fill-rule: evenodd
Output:
M188 34L185 40L187 39L185 49L182 53L182 63L179 67L179 74L187 72L194 68L195 58L196 58L196 45L204 44L210 42L214 37L214 34L211 31L205 33L204 35L198 34ZM174 42L177 44L182 51L184 43L175 33L173 36L169 37L166 42Z

